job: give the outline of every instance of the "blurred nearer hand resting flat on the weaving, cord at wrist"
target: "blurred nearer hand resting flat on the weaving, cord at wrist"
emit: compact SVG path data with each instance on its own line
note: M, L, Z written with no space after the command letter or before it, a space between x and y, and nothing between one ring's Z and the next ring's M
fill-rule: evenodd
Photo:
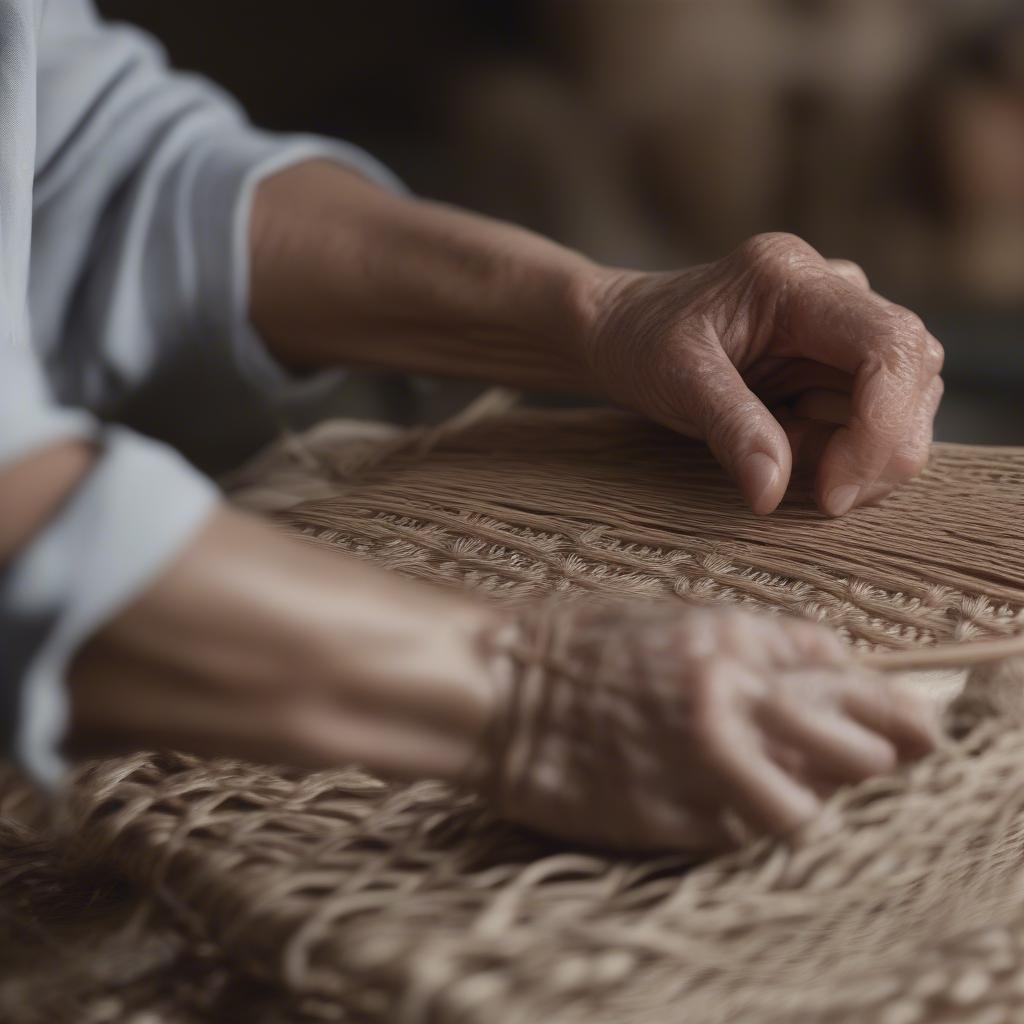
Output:
M708 850L737 831L786 836L938 736L924 698L796 618L540 609L500 646L510 668L476 784L568 840Z

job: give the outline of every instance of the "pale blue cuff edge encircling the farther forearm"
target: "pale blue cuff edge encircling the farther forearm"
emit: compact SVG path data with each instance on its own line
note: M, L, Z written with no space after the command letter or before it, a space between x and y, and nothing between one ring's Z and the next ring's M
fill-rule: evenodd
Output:
M270 354L249 318L249 222L256 187L264 178L308 160L331 160L382 187L406 191L398 178L357 146L312 135L283 137L247 129L218 139L195 204L201 221L198 279L211 327L229 340L245 379L286 414L290 407L321 399L345 376L343 370L288 370Z

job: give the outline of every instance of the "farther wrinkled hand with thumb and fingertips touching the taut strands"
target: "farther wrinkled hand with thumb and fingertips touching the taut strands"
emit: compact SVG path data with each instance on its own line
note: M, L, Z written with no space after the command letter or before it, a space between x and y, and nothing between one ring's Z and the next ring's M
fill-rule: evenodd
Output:
M597 385L706 440L755 512L778 505L795 463L830 515L924 468L942 346L855 264L762 234L693 270L608 271L598 294Z

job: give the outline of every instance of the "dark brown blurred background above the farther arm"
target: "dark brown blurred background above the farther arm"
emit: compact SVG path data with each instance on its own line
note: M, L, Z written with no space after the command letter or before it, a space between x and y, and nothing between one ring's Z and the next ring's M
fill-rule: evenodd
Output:
M765 230L854 259L946 345L942 439L1024 443L1021 0L99 6L258 124L597 259L666 268Z

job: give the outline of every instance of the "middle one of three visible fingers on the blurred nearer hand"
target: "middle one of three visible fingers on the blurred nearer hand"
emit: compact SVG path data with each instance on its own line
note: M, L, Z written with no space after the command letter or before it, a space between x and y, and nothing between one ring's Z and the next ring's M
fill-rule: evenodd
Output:
M892 771L898 761L888 739L820 706L766 702L759 711L759 721L774 738L805 755L808 781L824 775L859 782Z

